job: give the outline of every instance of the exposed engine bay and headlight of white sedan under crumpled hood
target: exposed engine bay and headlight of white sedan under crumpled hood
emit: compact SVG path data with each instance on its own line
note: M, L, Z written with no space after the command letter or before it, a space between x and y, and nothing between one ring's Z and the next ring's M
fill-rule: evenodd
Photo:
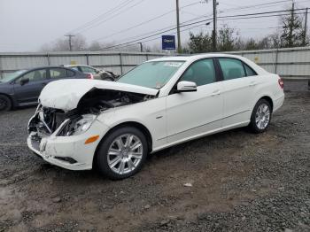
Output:
M37 132L39 137L51 135L56 130L59 136L79 135L90 127L100 113L153 98L156 96L94 88L81 97L75 109L68 112L39 104L29 121L28 132ZM59 128L60 126L62 127Z

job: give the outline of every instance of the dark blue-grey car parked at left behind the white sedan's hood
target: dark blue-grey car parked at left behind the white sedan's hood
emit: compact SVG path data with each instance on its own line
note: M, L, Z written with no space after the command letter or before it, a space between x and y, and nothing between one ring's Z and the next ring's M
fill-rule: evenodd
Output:
M37 104L41 90L50 81L87 78L89 75L85 73L59 66L43 66L8 73L0 79L0 112L17 106Z

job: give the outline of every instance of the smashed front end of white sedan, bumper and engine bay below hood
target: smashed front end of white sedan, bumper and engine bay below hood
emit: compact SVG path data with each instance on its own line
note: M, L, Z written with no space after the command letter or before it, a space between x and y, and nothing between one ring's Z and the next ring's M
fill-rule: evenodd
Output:
M93 157L99 140L91 144L85 141L94 135L99 138L108 130L97 117L113 108L153 98L156 96L93 88L69 111L58 109L57 105L55 108L46 106L41 102L28 122L28 147L57 166L72 170L90 169L92 162L89 157ZM92 127L93 124L96 125Z

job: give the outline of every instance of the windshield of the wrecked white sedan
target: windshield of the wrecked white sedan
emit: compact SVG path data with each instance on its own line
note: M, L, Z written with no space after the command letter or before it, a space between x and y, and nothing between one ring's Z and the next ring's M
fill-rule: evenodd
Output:
M184 61L151 61L136 66L120 77L119 82L152 89L162 88Z

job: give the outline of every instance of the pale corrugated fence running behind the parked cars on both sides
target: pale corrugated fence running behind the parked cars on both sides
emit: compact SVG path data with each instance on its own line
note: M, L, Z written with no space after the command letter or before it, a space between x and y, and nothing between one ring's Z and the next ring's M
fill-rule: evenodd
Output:
M278 73L283 79L310 80L310 47L242 50L227 52L250 58L270 73ZM0 53L0 77L19 69L35 66L60 66L69 64L105 68L114 73L128 72L143 61L167 56L164 53L147 52L51 52L51 53Z

